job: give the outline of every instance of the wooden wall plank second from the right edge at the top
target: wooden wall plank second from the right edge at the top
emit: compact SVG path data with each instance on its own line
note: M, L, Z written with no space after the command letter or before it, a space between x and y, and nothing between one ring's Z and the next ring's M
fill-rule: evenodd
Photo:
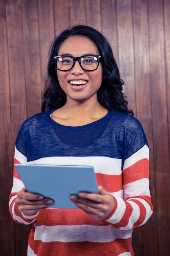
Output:
M152 94L152 122L157 200L157 225L159 231L159 256L170 251L170 160L167 124L166 66L163 1L150 0L150 70Z

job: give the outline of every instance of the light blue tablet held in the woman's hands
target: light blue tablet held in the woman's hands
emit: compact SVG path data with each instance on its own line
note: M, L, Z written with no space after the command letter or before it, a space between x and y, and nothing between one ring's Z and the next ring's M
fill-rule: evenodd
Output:
M78 209L70 195L99 194L92 166L15 164L15 168L28 192L55 201L49 208Z

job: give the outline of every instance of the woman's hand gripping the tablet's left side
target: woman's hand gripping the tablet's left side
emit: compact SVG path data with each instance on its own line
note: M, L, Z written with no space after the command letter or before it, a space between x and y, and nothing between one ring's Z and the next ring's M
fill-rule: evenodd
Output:
M54 201L49 198L44 198L42 195L29 193L24 187L17 193L16 204L24 215L32 216L53 205Z

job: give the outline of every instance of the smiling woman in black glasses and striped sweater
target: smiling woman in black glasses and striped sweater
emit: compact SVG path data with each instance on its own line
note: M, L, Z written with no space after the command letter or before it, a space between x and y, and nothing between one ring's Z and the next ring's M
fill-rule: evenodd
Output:
M42 113L22 124L15 163L91 165L99 194L71 195L79 209L49 209L53 200L28 193L14 168L11 216L35 222L28 255L133 255L132 229L152 214L149 150L110 45L74 26L54 40L48 71Z

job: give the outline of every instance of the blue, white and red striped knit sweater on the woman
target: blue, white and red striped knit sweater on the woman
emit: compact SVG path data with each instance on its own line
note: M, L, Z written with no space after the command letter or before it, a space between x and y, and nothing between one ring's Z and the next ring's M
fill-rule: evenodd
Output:
M149 148L135 117L108 110L84 126L63 126L51 119L54 110L30 117L15 144L14 163L68 164L94 167L98 185L115 200L105 220L81 209L52 209L24 216L15 200L24 184L13 171L9 209L17 223L30 224L29 256L132 256L132 229L152 214L149 191ZM60 195L59 195L60 196Z

